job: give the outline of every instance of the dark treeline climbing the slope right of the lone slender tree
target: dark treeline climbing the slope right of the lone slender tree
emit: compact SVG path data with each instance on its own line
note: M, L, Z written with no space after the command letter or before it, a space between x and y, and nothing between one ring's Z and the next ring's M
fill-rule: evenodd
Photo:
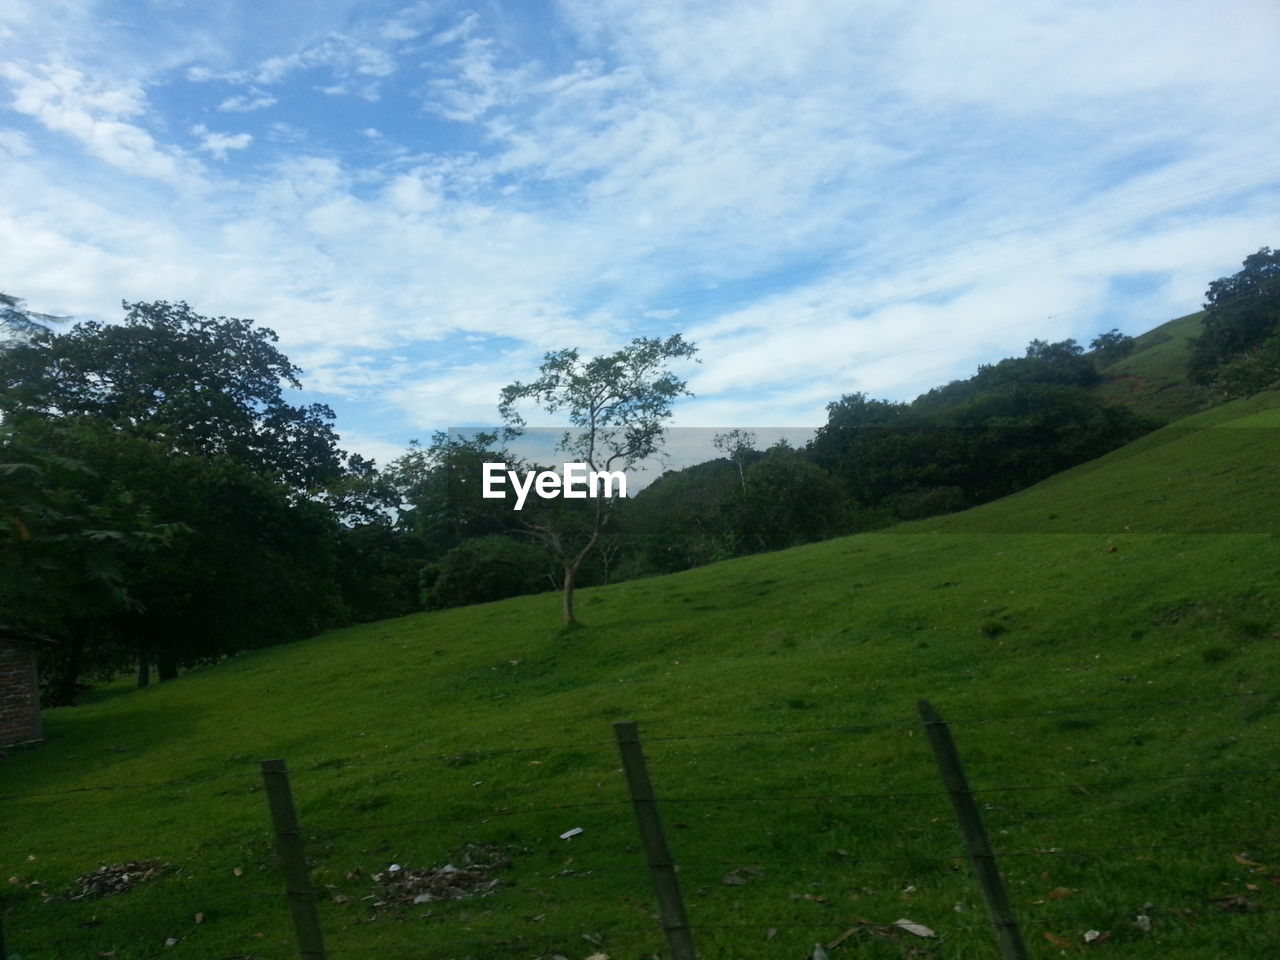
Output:
M964 509L1102 456L1158 426L1098 399L1073 340L1033 342L913 403L855 393L803 449L739 448L668 474L626 513L637 553L673 571Z

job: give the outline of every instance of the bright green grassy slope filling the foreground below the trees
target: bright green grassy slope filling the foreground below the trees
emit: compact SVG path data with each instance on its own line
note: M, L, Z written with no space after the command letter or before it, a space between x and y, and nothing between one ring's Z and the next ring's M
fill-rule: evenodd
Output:
M0 765L9 948L294 955L256 767L283 756L335 957L664 955L630 718L701 956L995 956L929 698L1033 956L1275 955L1277 428L1265 394L966 513L584 590L572 631L525 596L51 710ZM59 899L137 860L168 867ZM388 902L389 864L468 860L500 886Z

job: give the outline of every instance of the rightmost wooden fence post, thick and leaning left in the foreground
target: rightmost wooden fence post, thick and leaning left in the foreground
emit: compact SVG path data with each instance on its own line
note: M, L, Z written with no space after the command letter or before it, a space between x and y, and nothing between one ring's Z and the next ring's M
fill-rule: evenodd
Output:
M960 754L956 753L956 745L951 740L951 731L928 700L920 700L919 708L924 732L929 737L933 756L938 763L938 772L942 774L942 783L946 786L947 794L951 795L951 809L955 810L960 833L969 849L969 863L973 864L978 886L982 887L982 897L987 901L987 913L996 928L1000 955L1004 960L1028 960L1027 947L1018 932L1018 920L1009 905L1005 883L1000 877L996 854L991 849L987 828L982 824L982 815L978 813L978 805L969 790L969 780L960 764Z

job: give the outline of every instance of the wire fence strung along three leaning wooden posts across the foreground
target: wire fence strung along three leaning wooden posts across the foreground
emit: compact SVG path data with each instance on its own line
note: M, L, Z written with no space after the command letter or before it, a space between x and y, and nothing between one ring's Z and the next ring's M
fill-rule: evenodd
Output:
M1267 709L1224 745L1222 712L1251 701ZM60 827L0 838L0 957L684 960L694 943L704 957L796 960L1103 943L1277 955L1277 703L1245 691L947 718L963 791L940 782L920 718L655 730L634 748L649 794L627 724L613 740L280 764L292 822L248 764L9 790L0 818L36 805ZM1142 732L1153 718L1202 736L1181 756L1203 760L1170 769ZM1010 777L1029 745L1061 762L1038 755ZM223 792L202 808L210 791ZM957 794L986 852L973 824L957 832ZM218 822L184 819L201 809ZM1010 929L1024 952L1009 952Z

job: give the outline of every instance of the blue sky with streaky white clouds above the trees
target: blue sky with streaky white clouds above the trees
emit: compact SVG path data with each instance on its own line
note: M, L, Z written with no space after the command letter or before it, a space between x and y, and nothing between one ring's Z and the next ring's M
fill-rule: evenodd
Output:
M252 317L379 462L677 332L676 426L817 426L1280 246L1277 61L1275 0L0 0L0 291Z

